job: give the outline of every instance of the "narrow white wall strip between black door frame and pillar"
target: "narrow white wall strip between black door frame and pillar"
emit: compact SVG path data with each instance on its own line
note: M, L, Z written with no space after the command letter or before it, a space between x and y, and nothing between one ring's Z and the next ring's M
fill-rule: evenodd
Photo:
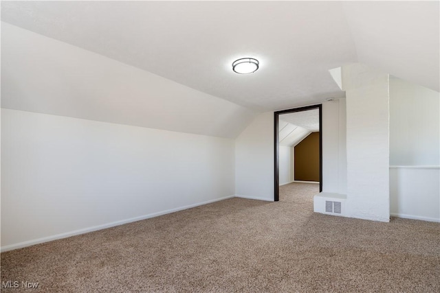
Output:
M322 104L322 191L346 194L345 99Z

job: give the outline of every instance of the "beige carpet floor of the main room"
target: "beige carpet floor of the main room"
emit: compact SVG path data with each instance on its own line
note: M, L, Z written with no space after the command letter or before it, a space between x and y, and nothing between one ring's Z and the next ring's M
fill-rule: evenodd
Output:
M439 223L312 210L232 198L12 250L1 281L39 288L2 292L440 292Z

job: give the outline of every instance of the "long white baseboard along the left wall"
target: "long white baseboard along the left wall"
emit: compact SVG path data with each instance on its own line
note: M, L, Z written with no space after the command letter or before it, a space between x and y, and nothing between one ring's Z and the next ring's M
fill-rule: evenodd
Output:
M0 248L0 252L3 253L5 251L8 250L14 250L14 249L19 249L19 248L23 248L23 247L27 247L27 246L32 246L35 244L41 244L44 242L50 242L50 241L54 241L54 240L58 240L58 239L63 239L63 238L67 238L67 237L72 237L75 235L80 235L80 234L85 234L85 233L89 233L89 232L94 232L94 231L98 231L98 230L102 230L105 228L111 228L114 226L120 226L123 224L129 224L131 222L137 222L137 221L141 221L141 220L146 220L149 218L154 218L154 217L158 217L159 215L166 215L167 213L175 213L176 211L183 211L184 209L191 209L192 207L199 207L203 204L210 204L212 202L219 202L220 200L227 200L228 198L234 198L235 196L225 196L223 198L216 198L214 200L207 200L206 202L198 202L197 204L189 204L186 205L184 207L177 207L175 209L168 209L166 211L159 211L157 213L149 213L148 215L141 215L139 217L135 217L135 218L129 218L126 220L120 220L120 221L115 221L115 222L111 222L111 223L107 223L107 224L102 224L102 225L97 225L97 226L91 226L88 228L82 228L82 229L78 229L75 231L70 231L70 232L66 232L66 233L61 233L61 234L56 234L56 235L52 235L52 236L47 236L47 237L42 237L39 239L33 239L33 240L28 240L25 242L20 242L17 244L10 244L10 245L6 245L6 246L1 246Z

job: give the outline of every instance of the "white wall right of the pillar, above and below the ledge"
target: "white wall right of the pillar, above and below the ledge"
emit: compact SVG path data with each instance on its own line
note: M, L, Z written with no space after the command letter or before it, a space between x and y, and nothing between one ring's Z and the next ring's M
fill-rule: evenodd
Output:
M439 93L390 80L391 215L440 222Z

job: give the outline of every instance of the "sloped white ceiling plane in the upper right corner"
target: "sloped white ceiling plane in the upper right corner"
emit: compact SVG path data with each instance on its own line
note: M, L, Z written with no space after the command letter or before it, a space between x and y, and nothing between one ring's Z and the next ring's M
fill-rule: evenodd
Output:
M439 91L440 1L349 1L358 62Z

